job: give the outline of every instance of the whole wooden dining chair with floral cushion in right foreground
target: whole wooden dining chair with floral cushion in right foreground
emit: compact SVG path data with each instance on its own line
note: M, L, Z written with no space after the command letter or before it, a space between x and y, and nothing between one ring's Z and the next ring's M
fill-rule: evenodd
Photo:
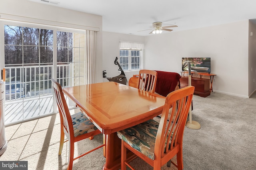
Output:
M172 163L178 170L183 169L182 140L194 89L194 86L187 86L168 94L159 123L150 119L117 132L122 139L121 170L126 170L126 166L134 170L126 161L126 149L150 164L154 170L160 170L166 163L168 167ZM174 118L174 121L167 120L170 107L173 108L171 119ZM175 155L177 164L171 160Z

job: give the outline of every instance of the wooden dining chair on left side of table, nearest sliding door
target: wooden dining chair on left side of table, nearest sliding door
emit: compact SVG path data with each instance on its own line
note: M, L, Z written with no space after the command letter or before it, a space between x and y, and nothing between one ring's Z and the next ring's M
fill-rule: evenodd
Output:
M74 158L74 143L81 141L83 139L89 138L93 139L94 135L100 134L100 130L81 112L70 115L70 111L68 109L68 105L64 98L64 94L62 92L61 85L56 82L56 80L52 80L53 93L58 105L59 113L60 113L60 148L59 155L62 153L62 148L64 142L69 142L69 153L68 153L68 168L67 170L72 170L73 161L105 146L100 145L80 156ZM67 141L64 141L64 135L67 137Z

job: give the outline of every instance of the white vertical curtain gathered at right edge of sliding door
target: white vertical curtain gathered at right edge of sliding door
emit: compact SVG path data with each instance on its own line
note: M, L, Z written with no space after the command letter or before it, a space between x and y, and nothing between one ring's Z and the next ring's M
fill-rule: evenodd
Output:
M97 32L86 30L86 54L88 58L88 84L96 83Z

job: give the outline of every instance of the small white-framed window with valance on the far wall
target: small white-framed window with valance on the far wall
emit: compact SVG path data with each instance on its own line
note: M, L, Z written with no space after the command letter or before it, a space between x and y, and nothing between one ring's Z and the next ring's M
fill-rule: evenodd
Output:
M124 71L142 69L143 44L120 42L120 66Z

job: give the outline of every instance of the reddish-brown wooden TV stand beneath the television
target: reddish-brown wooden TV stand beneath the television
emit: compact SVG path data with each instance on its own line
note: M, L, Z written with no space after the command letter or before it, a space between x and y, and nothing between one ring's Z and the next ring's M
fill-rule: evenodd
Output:
M180 78L180 88L188 86L188 76ZM207 97L210 95L210 79L191 77L191 86L195 87L194 94L198 94L201 97Z

